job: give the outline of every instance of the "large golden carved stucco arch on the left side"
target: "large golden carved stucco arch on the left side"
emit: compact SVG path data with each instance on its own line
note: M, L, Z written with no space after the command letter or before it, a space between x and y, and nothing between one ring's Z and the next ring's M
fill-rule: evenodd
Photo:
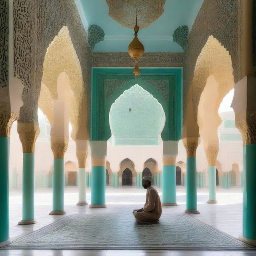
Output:
M66 73L73 98L70 100L70 123L72 124L72 138L88 139L87 130L87 94L84 90L82 69L78 56L72 44L67 26L63 26L57 36L49 44L43 64L42 86L40 92L40 108L52 120L52 100L58 98L57 81L62 73ZM82 116L83 118L79 118ZM79 134L78 134L79 133Z

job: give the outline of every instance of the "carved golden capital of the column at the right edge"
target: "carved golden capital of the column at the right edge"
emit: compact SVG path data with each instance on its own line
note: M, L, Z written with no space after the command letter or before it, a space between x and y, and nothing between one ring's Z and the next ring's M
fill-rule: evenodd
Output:
M236 127L242 134L243 144L256 144L256 110L244 110L235 115Z

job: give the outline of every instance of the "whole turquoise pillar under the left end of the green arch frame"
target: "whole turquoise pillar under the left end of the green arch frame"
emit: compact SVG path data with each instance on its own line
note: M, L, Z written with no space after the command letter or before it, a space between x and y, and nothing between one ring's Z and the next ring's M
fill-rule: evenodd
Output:
M91 204L92 208L106 207L106 153L107 141L93 140L90 142L92 150L91 172Z

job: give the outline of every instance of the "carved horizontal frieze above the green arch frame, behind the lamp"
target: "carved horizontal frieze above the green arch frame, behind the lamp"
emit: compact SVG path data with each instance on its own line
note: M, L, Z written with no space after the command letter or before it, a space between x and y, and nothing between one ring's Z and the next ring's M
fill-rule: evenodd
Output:
M94 67L134 67L127 52L94 52ZM145 52L140 67L182 67L183 52Z

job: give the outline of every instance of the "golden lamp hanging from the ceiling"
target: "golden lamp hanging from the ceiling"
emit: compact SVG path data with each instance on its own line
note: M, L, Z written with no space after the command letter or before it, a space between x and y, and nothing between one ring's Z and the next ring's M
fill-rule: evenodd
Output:
M135 32L134 38L128 46L128 53L130 54L130 56L132 57L132 59L135 62L133 74L134 74L134 76L139 76L140 69L138 67L138 61L139 61L140 57L142 56L142 54L144 53L144 46L137 37L138 32L139 32L139 27L137 25L137 14L136 14L136 25L134 27L134 32Z

